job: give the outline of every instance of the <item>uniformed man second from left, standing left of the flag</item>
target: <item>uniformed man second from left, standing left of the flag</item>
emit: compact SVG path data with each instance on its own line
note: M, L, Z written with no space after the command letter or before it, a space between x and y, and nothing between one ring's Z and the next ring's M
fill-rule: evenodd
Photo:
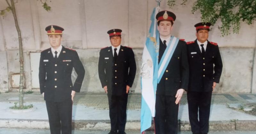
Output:
M100 82L108 94L111 123L109 134L125 134L127 98L136 74L132 48L120 45L121 32L120 29L107 32L112 46L102 48L99 58Z

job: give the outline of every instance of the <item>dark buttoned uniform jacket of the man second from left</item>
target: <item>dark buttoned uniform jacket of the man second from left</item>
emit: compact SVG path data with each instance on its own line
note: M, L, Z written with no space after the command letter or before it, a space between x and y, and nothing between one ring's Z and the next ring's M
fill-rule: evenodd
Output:
M132 87L136 74L132 49L120 46L116 62L114 62L111 46L101 49L98 71L101 86L102 88L107 86L108 94L125 94L126 85Z

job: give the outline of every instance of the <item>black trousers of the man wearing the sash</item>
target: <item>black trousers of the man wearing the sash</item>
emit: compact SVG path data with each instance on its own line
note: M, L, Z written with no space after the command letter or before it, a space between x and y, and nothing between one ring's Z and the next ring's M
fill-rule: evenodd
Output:
M156 134L178 133L179 104L175 104L175 96L156 94Z

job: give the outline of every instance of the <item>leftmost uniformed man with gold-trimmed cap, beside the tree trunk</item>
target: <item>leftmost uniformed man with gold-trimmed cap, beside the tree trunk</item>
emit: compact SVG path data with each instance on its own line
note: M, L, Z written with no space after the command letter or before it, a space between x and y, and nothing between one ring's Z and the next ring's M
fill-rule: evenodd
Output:
M73 99L84 79L84 66L77 52L60 45L63 30L54 25L45 28L51 48L41 52L39 63L40 92L46 102L51 134L71 134ZM74 85L73 68L77 73Z

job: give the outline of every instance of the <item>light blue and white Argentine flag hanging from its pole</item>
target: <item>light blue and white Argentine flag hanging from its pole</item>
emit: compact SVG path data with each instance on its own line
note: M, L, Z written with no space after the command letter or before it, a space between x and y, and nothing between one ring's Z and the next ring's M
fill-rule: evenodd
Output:
M158 79L158 51L159 32L157 30L156 14L159 5L151 14L151 25L148 32L146 44L143 49L141 63L141 114L140 132L151 127L152 117L155 117L156 86Z

